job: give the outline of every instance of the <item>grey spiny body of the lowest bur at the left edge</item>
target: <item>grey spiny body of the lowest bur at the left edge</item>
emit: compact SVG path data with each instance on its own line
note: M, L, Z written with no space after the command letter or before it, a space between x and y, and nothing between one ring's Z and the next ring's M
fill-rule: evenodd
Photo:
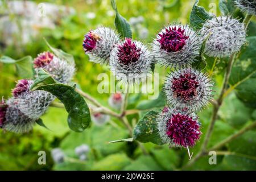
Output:
M8 107L6 109L5 122L3 123L2 129L18 134L31 131L32 127L35 125L35 119L31 119L22 113L14 98L10 98L6 103Z

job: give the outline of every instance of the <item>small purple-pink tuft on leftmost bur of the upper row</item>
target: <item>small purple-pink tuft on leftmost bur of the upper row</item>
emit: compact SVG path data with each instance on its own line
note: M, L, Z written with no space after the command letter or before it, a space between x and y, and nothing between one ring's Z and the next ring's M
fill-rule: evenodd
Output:
M82 47L84 47L85 53L92 51L100 39L100 36L95 34L93 31L89 31L87 34L85 34L84 41L82 42Z

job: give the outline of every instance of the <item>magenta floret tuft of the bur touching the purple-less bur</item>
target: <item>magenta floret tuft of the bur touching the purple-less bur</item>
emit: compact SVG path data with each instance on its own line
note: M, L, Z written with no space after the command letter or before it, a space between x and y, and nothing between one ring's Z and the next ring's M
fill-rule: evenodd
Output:
M182 49L189 38L189 36L185 36L184 31L185 29L182 30L180 27L174 26L166 28L166 32L158 34L160 39L157 41L160 43L160 49L167 52L177 52Z

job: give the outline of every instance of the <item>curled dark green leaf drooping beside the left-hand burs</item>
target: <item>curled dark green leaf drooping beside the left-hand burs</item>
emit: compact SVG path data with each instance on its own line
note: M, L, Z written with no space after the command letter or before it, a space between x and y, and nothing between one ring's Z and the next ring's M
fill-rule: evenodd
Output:
M55 81L51 75L39 70L39 76L31 85L31 90L44 90L52 93L61 102L68 112L68 125L71 130L81 132L90 124L90 111L84 98L75 91L75 88Z

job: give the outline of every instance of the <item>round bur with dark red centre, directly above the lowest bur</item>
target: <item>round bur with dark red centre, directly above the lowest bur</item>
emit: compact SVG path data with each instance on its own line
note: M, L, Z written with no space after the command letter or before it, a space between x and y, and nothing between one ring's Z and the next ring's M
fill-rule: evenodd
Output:
M201 109L212 100L212 87L207 75L191 68L170 73L164 84L168 104L189 111Z

